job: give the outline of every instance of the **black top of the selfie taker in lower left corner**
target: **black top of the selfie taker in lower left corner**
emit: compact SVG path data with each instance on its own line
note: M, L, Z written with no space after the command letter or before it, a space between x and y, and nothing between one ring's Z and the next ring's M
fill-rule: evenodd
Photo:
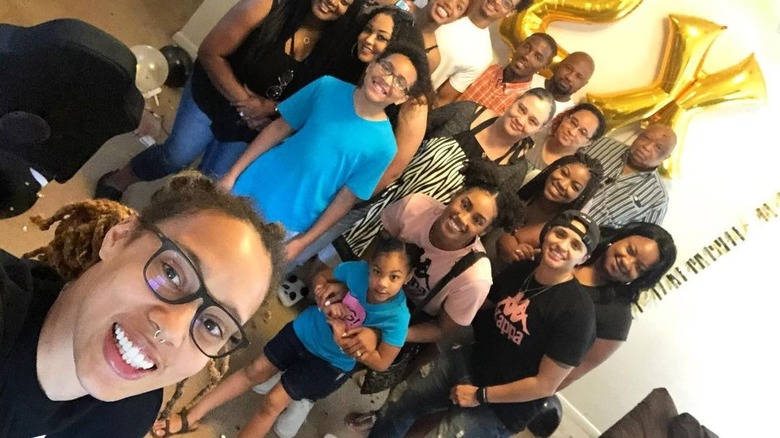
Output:
M38 384L38 337L63 284L51 268L0 250L0 437L144 436L161 389L110 403L91 396L52 401Z

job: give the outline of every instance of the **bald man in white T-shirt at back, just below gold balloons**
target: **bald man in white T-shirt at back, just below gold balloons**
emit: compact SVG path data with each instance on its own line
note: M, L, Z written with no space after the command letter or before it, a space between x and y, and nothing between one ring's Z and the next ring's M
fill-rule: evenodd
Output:
M572 94L588 83L595 69L593 58L585 52L571 53L558 64L553 77L544 83L544 88L555 97L556 115L575 105Z

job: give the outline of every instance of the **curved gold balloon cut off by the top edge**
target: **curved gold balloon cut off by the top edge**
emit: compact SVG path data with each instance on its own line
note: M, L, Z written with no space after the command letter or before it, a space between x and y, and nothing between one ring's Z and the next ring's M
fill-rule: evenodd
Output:
M612 23L630 14L640 3L642 0L535 1L528 9L504 18L498 31L509 47L515 47L517 43L535 32L546 32L547 26L554 21L584 24ZM558 54L552 64L557 65L568 54L564 48L558 47Z

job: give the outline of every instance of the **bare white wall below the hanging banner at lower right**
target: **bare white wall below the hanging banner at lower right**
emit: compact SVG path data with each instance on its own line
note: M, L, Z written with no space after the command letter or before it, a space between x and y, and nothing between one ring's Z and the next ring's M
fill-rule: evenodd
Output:
M771 436L780 394L774 334L780 226L765 225L634 323L629 342L564 391L605 430L655 387L679 412L728 437ZM751 278L752 277L752 278ZM770 277L770 278L767 278Z

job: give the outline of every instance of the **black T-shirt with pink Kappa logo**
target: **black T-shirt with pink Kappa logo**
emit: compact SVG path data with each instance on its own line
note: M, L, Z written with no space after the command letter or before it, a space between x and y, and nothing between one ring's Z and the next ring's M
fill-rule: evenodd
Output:
M533 277L526 283L534 268L533 262L507 267L494 278L488 295L495 308L474 318L472 365L478 386L535 376L543 356L575 367L595 340L595 312L587 291L576 279L550 288ZM520 290L524 284L528 293ZM537 408L535 403L490 407L512 431L522 429L529 410Z

